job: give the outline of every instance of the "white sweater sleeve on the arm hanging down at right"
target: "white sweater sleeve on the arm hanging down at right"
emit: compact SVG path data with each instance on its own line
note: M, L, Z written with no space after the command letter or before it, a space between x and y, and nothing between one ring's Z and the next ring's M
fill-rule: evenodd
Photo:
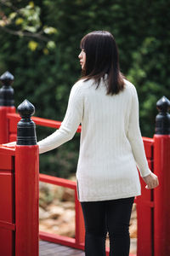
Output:
M132 102L129 116L127 138L131 144L133 157L139 168L140 176L145 177L150 174L150 168L144 152L144 143L139 128L139 99L136 88L132 86Z

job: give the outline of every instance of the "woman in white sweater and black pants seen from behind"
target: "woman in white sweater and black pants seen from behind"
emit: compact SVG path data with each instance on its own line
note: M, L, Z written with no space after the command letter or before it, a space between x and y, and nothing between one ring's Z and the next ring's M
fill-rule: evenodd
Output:
M139 129L139 102L133 84L119 69L116 41L110 32L88 33L78 56L82 79L71 89L58 131L38 143L40 154L71 140L82 124L77 165L77 192L85 221L86 256L127 256L134 197L158 179L149 169ZM139 172L136 165L139 167Z

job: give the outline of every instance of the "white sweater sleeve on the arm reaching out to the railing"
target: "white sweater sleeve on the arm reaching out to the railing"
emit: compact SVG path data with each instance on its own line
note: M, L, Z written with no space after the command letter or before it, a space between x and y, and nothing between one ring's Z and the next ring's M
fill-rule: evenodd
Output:
M39 153L42 154L51 149L59 147L74 137L78 125L82 122L83 102L80 86L74 84L69 96L69 102L65 113L65 119L61 123L59 130L54 131L50 136L39 141Z

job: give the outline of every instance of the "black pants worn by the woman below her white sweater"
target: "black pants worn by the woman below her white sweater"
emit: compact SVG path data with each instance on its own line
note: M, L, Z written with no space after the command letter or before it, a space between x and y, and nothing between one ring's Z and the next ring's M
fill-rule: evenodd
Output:
M133 201L134 197L81 202L86 229L86 256L105 256L107 231L110 238L110 256L129 255L129 222Z

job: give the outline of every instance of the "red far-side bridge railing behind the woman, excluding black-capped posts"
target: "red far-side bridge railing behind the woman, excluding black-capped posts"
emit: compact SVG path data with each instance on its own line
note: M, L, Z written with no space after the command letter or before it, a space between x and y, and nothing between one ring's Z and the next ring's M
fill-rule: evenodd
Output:
M16 127L17 123L20 120L19 114L16 113L7 113L8 124L9 124L9 141L14 141L16 139ZM61 122L42 119L37 117L32 117L32 120L36 123L36 125L41 125L45 127L51 128L59 128ZM81 126L79 126L77 132L81 132ZM152 138L143 137L145 153L147 156L147 160L150 166L150 170L153 172L153 146L154 140ZM76 212L76 230L75 230L75 238L67 237L67 236L59 236L56 234L49 234L47 232L42 232L40 230L40 238L46 241L53 241L56 243L63 244L65 246L76 247L83 249L84 248L84 224L82 218L82 209L79 201L77 200L77 183L73 181L69 181L64 178L52 177L44 174L40 174L40 181L44 183L52 183L54 185L59 185L65 188L74 189L75 191L75 212ZM137 204L137 215L138 215L138 253L137 255L152 255L153 251L153 224L151 221L151 217L153 214L153 191L146 190L144 181L141 179L141 189L142 196L139 196L135 199L135 203ZM144 212L144 214L143 214ZM147 253L146 252L147 250ZM143 252L144 251L144 252ZM109 249L107 249L107 253L109 253ZM108 254L109 255L109 254Z

